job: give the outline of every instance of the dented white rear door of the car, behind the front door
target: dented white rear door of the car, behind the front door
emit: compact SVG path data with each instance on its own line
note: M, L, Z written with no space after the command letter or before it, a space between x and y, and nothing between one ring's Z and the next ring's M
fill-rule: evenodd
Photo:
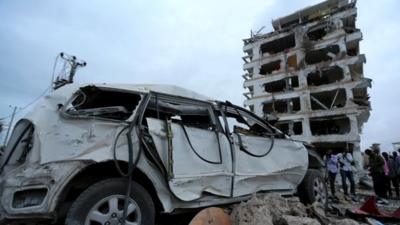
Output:
M174 195L184 201L206 192L230 196L230 144L211 104L158 95L147 110L153 111L145 119Z

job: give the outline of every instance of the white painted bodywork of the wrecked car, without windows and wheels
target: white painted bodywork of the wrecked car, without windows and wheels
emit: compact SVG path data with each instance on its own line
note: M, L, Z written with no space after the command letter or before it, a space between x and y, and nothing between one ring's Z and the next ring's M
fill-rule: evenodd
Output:
M126 138L117 136L132 120L113 121L93 117L75 118L65 113L70 99L82 87L89 85L66 85L43 97L23 119L33 123L33 147L26 162L17 167L5 168L0 175L1 216L7 218L52 218L62 187L80 170L94 163L113 160L113 146L121 161L128 161ZM176 86L166 85L93 85L116 91L165 93L215 105L213 100ZM143 98L142 98L143 99ZM165 121L147 118L149 132L164 165L168 164ZM239 134L227 137L222 131L216 133L185 126L193 147L210 160L219 158L221 164L200 160L190 151L181 125L172 124L174 177L166 182L154 164L141 157L137 168L151 180L165 212L178 208L203 207L236 202L257 191L280 191L294 193L308 166L307 150L303 144L290 139L276 139L270 154L252 158L239 150ZM251 151L262 152L271 143L270 138L241 135L243 145ZM133 153L138 153L139 139L132 133ZM233 148L233 149L231 149ZM63 169L66 168L66 169ZM48 176L43 178L42 171ZM42 174L43 174L42 173ZM42 176L43 179L38 179ZM101 176L101 174L99 174ZM52 182L57 181L56 183ZM33 185L34 184L34 185ZM49 191L44 203L34 208L13 208L13 194L21 188L45 186ZM171 193L172 192L172 193ZM205 193L208 193L205 195ZM211 196L209 195L211 194Z

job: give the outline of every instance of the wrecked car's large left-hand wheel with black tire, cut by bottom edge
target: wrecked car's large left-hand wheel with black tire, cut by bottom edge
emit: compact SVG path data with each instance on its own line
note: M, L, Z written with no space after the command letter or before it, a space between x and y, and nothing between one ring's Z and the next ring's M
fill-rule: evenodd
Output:
M132 181L126 225L153 225L155 209L147 191ZM112 178L87 188L72 204L66 225L118 225L122 223L127 180Z

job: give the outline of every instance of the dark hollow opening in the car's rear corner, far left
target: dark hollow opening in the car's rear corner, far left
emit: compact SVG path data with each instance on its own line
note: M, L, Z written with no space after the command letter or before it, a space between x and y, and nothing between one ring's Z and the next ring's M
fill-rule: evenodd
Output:
M33 145L33 124L26 119L18 121L1 158L1 170L6 164L14 165L25 162Z

